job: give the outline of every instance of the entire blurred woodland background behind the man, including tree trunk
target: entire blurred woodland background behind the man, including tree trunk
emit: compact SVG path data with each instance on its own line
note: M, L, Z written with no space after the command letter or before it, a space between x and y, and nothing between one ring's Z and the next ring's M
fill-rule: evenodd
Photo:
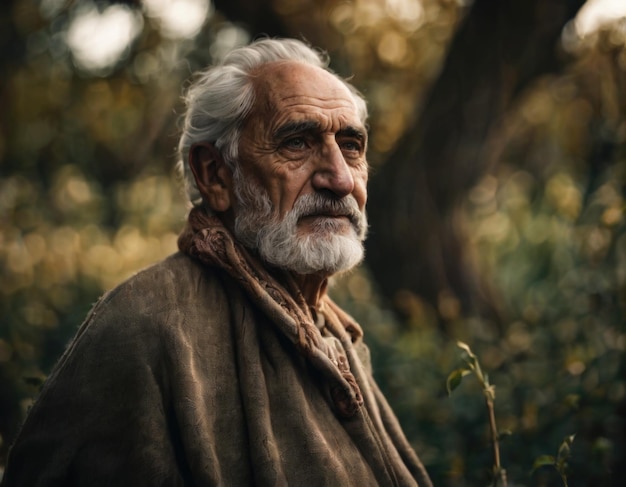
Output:
M182 90L259 35L369 101L367 258L332 292L435 485L491 479L476 380L446 392L457 340L510 486L563 485L532 468L572 434L569 485L622 485L623 0L4 0L0 465L94 301L176 250Z

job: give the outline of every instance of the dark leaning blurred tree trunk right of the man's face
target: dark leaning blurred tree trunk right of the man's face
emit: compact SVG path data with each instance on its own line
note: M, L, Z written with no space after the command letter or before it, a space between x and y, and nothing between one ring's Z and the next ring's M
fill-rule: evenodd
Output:
M583 3L476 0L467 13L423 110L370 185L367 259L392 301L409 291L445 318L439 302L453 296L462 312L500 321L455 210L488 170L489 134L515 95L560 70L561 31Z

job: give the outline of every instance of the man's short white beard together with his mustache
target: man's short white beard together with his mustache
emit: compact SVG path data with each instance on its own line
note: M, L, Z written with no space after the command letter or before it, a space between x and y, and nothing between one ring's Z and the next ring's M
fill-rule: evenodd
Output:
M336 199L321 193L298 198L294 207L279 220L267 191L246 180L237 168L233 174L235 188L235 237L254 249L265 262L298 274L346 271L363 260L363 241L367 233L367 217L356 199ZM298 222L309 215L333 211L347 215L351 223L347 234L345 224L335 218L317 218L312 230L301 235Z

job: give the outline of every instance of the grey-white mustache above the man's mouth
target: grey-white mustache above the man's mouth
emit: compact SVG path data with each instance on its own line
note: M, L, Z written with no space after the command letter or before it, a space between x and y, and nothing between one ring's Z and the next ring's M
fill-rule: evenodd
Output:
M364 233L367 226L364 212L352 195L332 198L320 193L305 194L296 200L292 212L298 220L307 216L344 216L350 220L358 235Z

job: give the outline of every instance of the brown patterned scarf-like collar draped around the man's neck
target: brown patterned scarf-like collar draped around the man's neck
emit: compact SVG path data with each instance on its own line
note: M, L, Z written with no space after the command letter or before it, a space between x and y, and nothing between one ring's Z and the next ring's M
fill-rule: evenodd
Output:
M285 271L263 266L256 256L237 243L219 218L195 207L187 227L178 239L180 250L226 271L252 301L270 317L299 352L319 370L330 384L330 393L339 414L352 417L363 404L360 388L350 371L345 351L325 340L315 325L309 307L293 277ZM362 336L361 328L328 296L320 309L326 328L344 349Z

